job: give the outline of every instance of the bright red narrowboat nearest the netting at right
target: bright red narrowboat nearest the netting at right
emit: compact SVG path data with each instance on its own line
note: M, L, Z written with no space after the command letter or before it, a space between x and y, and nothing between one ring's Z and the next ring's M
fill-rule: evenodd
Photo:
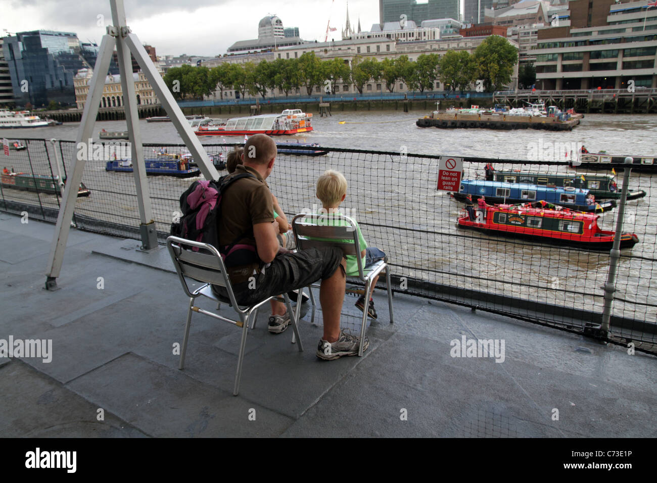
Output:
M556 208L541 208L538 203L489 205L486 210L477 210L474 220L467 214L461 214L457 226L513 238L580 246L589 250L612 248L615 233L599 227L600 215L576 212L560 206ZM631 248L637 242L639 237L634 233L623 233L620 248Z

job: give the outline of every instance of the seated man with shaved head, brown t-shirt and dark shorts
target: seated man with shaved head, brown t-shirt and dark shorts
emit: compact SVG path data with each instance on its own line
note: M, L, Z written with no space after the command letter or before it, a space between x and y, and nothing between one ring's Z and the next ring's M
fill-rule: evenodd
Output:
M279 227L273 216L271 192L265 183L274 167L276 143L265 134L251 136L234 173L253 177L238 179L223 193L221 219L217 220L219 251L231 246L225 259L238 304L251 305L278 294L308 287L321 279L319 301L324 334L317 356L337 359L358 354L360 338L340 332L340 311L346 286L345 260L336 247L309 248L290 253L280 248ZM225 288L214 292L227 296ZM300 303L300 302L298 302ZM269 331L283 332L290 323L283 302L272 302ZM327 342L330 347L327 348ZM367 349L367 338L363 342Z

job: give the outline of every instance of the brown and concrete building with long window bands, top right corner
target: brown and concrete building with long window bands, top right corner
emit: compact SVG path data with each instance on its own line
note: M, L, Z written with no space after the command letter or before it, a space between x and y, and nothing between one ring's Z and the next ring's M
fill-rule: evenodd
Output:
M570 26L538 31L541 89L657 87L657 8L648 1L571 0Z

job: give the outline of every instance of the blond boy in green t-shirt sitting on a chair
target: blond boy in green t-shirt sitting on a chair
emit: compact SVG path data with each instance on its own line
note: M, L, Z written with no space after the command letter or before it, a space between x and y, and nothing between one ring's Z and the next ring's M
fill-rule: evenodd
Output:
M338 207L347 196L347 180L344 175L342 175L342 173L334 170L327 170L317 179L317 191L315 194L317 195L317 198L319 198L319 200L322 202L323 210L320 214L341 214L338 211ZM331 226L340 226L346 224L346 221L330 218L328 219L328 225ZM363 268L373 264L374 262L378 262L378 260L383 260L386 254L378 248L367 246L367 242L365 241L365 238L363 238L363 233L361 233L361 227L359 227L358 223L356 223L356 229L358 231L358 242L362 249L361 263L363 264ZM358 275L358 261L356 260L355 255L348 255L346 256L346 259L347 275ZM372 300L372 294L374 293L374 287L376 287L376 281L378 281L378 275L376 275L372 281L372 289L368 294L370 301L367 315L369 315L369 317L372 319L376 319L374 300ZM355 305L360 310L365 310L365 295L361 295Z

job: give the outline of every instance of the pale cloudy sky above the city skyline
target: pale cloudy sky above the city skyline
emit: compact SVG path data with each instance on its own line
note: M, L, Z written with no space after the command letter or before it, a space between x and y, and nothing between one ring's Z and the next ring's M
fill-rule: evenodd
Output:
M258 21L271 13L284 27L298 27L306 40L323 41L330 17L334 38L346 20L346 0L125 0L127 24L158 55L208 55L226 52L233 42L258 37ZM198 6L200 5L200 6ZM101 24L111 24L109 0L0 0L0 32L62 30L81 41L101 43ZM378 0L351 0L349 16L363 30L378 23ZM330 34L329 34L329 39Z

